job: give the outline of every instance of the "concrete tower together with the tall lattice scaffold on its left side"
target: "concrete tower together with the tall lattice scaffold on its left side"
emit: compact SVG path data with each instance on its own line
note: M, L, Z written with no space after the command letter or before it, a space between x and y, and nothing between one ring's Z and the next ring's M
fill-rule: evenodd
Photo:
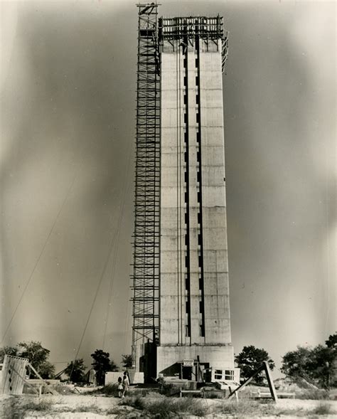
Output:
M223 19L139 5L133 356L147 378L233 378ZM221 376L221 377L220 377Z

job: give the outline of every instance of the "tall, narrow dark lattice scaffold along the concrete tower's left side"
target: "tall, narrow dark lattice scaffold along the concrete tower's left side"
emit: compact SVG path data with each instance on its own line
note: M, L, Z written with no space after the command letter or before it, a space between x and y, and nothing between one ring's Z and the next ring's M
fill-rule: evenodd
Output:
M159 339L160 71L158 5L138 4L132 358Z

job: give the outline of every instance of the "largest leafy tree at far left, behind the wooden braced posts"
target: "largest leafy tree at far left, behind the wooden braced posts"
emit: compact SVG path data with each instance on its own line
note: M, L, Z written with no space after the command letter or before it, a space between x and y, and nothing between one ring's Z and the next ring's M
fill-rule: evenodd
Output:
M49 375L53 373L53 366L48 362L50 351L49 349L43 348L41 342L20 342L18 344L17 354L18 356L22 356L22 358L28 358L29 363L38 373L41 374L42 372L45 377L47 376L46 378L50 378ZM29 376L32 373L33 371L29 371ZM35 376L35 373L33 373L33 376Z

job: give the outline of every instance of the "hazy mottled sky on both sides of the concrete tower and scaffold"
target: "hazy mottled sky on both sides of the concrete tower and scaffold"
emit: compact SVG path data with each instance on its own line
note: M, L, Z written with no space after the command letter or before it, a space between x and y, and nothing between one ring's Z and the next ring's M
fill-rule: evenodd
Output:
M336 331L336 4L161 1L224 16L232 343L277 366ZM130 353L137 7L1 1L1 338ZM107 323L105 323L107 322ZM10 325L10 327L9 327ZM60 370L65 364L57 364Z

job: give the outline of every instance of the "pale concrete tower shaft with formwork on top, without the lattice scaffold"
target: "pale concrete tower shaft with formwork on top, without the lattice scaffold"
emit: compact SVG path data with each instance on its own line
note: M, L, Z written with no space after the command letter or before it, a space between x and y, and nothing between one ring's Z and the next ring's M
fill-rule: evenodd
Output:
M222 18L161 18L161 258L157 373L233 368Z

